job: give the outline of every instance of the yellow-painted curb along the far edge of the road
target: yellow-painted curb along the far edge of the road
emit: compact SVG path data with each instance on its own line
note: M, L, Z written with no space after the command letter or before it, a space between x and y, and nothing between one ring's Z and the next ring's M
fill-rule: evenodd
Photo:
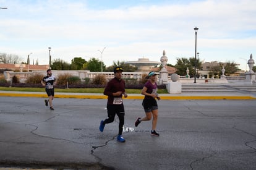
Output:
M46 94L36 93L0 93L0 96L48 98ZM54 98L107 99L105 95L62 95ZM143 100L144 96L128 96L127 100ZM161 100L255 100L252 96L161 96Z

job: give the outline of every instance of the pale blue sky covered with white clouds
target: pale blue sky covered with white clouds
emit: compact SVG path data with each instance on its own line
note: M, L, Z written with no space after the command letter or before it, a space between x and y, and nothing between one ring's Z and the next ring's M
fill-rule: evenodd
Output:
M160 61L195 56L205 62L256 61L255 0L0 0L0 53L30 63L74 57ZM100 51L99 51L100 50ZM241 59L242 58L242 59ZM247 66L248 69L248 66Z

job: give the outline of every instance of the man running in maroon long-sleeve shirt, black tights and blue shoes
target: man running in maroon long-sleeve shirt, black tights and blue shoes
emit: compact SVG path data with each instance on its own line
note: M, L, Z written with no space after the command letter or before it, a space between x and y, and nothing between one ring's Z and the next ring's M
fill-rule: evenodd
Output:
M114 117L119 118L119 131L117 141L125 142L122 137L122 129L124 126L124 104L122 103L122 95L127 98L126 90L124 89L124 80L122 80L122 68L114 68L114 79L110 80L104 90L104 95L108 96L108 118L100 122L100 131L103 132L105 124L114 121Z

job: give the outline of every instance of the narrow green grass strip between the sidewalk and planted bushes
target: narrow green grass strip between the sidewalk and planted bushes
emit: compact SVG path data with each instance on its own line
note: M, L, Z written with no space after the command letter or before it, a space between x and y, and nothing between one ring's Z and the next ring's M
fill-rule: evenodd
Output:
M30 91L30 92L45 92L45 88L30 88L30 87L0 87L2 91ZM55 92L60 93L103 93L104 88L55 88ZM126 93L140 94L140 89L126 89ZM159 94L166 94L166 89L158 89Z

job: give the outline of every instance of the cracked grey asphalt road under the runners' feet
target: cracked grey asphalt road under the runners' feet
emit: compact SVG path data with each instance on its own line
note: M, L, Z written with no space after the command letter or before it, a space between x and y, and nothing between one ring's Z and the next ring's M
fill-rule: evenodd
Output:
M0 168L256 169L256 100L161 100L157 130L142 100L124 100L125 143L106 100L0 97Z

